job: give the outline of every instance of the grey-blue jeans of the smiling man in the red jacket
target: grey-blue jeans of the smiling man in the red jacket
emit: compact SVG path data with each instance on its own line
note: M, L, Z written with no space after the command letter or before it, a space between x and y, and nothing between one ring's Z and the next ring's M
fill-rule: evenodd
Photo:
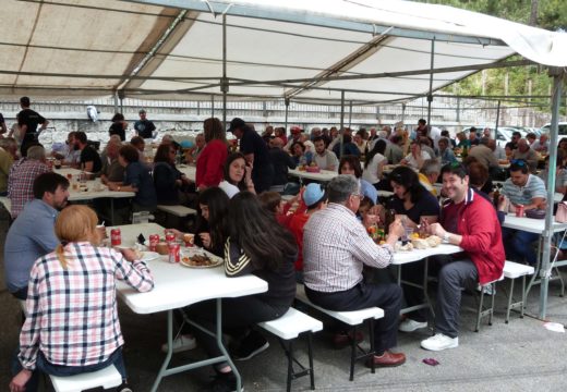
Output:
M442 267L435 307L435 329L449 338L459 334L461 289L473 289L479 272L470 259L453 261Z

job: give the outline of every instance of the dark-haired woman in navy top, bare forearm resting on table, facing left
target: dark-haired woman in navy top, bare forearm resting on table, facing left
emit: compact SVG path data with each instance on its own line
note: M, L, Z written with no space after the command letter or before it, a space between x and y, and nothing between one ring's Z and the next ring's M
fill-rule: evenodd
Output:
M132 211L154 211L157 208L156 188L147 168L140 162L135 147L120 147L118 161L125 168L123 182L109 182L108 188L118 192L134 192Z

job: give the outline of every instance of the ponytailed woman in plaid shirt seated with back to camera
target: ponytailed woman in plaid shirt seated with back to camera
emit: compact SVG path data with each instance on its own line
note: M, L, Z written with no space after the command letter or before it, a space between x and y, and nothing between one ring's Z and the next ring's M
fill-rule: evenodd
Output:
M99 247L97 221L95 211L86 206L71 206L59 215L55 231L61 244L32 268L27 318L20 334L23 369L12 379L10 391L25 391L35 369L73 376L110 365L122 376L118 391L130 391L116 283L122 280L147 292L154 281L144 261L135 260L133 250L120 254Z

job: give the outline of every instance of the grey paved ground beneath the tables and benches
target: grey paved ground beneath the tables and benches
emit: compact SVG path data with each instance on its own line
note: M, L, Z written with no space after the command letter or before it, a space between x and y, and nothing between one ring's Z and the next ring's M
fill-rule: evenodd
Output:
M5 229L4 229L5 230ZM3 231L0 244L3 248ZM8 391L10 382L10 355L19 333L20 308L7 292L3 267L0 278L0 391ZM493 326L483 324L473 332L474 315L461 311L459 347L445 352L426 352L419 343L429 336L427 330L399 334L397 350L406 353L407 363L398 368L377 369L375 375L363 364L355 367L355 378L348 380L349 348L336 351L329 345L325 331L314 336L315 387L318 391L565 391L567 380L567 339L565 333L546 330L543 321L533 317L520 319L512 314L511 321L504 323L504 285L496 296L496 315ZM190 290L191 287L188 287ZM567 323L567 298L559 297L559 286L553 282L550 290L547 318ZM538 314L539 286L530 293L528 313ZM463 304L474 306L472 296L463 296ZM165 342L165 314L135 315L120 306L120 320L126 341L125 363L130 382L136 392L148 391L164 359L159 351ZM269 336L270 347L251 360L238 363L244 388L251 391L284 391L286 388L287 362L277 340ZM305 345L298 343L300 358L305 359ZM178 354L179 359L203 358L196 348ZM435 358L438 366L422 363ZM159 391L200 391L210 380L209 368L170 376ZM294 391L310 390L309 378L293 381Z

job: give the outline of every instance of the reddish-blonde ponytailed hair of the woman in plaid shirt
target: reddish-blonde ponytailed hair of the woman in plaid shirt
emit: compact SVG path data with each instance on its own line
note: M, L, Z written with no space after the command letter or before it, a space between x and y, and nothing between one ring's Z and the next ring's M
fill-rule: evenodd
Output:
M95 241L97 238L96 212L86 206L70 206L59 213L56 221L56 235L61 242L56 254L63 269L67 269L64 246L70 242Z

